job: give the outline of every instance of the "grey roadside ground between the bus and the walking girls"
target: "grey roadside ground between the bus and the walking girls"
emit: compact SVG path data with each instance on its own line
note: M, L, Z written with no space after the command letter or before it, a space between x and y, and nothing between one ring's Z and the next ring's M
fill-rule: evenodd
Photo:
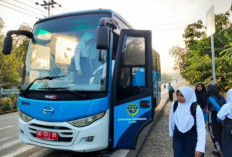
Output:
M168 134L168 119L171 102L169 102L164 113L156 126L153 126L138 157L172 157L172 138ZM212 157L213 144L207 131L207 144L205 157Z

